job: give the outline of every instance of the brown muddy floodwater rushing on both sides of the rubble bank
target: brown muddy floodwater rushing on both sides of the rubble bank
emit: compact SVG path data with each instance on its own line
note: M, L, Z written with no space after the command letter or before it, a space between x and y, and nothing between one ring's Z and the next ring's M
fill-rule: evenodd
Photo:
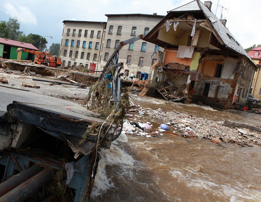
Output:
M236 110L134 97L138 105L176 110L213 121L261 125L261 116ZM150 121L155 127L160 122ZM153 126L153 127L154 127ZM261 147L164 134L121 135L101 152L92 201L261 201Z

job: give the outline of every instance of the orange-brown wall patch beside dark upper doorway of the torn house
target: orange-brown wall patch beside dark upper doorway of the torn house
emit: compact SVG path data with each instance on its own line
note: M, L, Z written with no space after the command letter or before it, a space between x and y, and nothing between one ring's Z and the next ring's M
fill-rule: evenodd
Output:
M203 68L202 68L202 64L203 64ZM215 76L217 64L223 64L223 62L217 62L212 60L206 61L206 59L204 59L201 63L199 63L198 72L206 76Z

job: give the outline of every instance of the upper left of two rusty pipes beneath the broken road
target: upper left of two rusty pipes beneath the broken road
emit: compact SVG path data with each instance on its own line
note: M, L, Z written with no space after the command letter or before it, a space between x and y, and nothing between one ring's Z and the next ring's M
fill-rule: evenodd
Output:
M0 197L15 188L16 186L20 185L24 181L28 180L29 178L33 177L35 174L39 173L43 170L42 167L33 165L27 168L25 171L18 173L17 175L12 176L8 180L3 181L0 184Z

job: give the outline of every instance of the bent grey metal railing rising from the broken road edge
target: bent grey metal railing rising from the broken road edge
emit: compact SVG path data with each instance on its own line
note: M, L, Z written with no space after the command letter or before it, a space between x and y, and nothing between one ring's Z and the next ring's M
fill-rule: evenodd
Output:
M120 83L121 83L121 69L123 67L123 62L118 62L119 60L119 51L121 48L129 43L143 39L143 35L135 36L126 41L120 42L118 47L114 50L109 60L106 62L102 73L100 74L99 80L103 81L106 78L106 74L110 73L110 82L111 82L111 96L114 104L116 104L116 112L119 110L120 102ZM111 69L110 72L107 72L108 69ZM112 101L111 100L111 101Z

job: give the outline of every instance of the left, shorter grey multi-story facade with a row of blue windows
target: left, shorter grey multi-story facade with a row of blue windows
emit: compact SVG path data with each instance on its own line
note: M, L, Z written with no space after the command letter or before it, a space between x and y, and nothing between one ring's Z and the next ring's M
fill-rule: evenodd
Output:
M106 22L63 21L63 33L60 46L62 66L82 64L96 67L101 54Z

